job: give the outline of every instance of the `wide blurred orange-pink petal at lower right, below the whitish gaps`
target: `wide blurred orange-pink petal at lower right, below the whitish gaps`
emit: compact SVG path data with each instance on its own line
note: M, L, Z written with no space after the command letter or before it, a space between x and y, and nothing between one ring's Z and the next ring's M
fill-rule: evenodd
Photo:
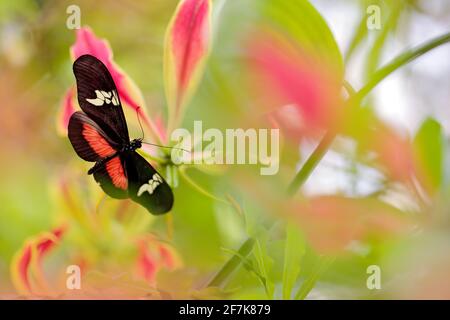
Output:
M321 254L342 254L353 241L388 241L414 226L409 215L375 198L319 196L295 206L299 227Z

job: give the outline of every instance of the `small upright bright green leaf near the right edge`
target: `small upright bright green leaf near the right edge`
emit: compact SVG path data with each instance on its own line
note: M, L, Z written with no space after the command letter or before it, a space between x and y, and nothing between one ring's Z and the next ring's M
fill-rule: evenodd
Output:
M414 138L414 149L426 176L424 181L433 191L440 188L444 175L444 133L439 122L426 119Z

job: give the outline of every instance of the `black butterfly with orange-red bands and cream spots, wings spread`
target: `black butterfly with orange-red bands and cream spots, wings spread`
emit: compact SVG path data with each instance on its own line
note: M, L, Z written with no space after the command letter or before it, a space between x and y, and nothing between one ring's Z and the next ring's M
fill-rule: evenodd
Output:
M69 120L69 140L83 160L95 162L93 175L112 198L141 204L158 215L171 210L173 193L163 177L136 150L142 139L130 140L114 80L107 67L91 55L73 64L82 111Z

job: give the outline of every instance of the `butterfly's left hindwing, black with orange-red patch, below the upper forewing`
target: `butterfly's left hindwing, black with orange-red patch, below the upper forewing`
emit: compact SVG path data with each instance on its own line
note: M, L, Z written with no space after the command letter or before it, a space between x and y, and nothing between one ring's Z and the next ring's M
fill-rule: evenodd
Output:
M69 140L86 161L99 161L117 152L119 146L86 114L77 111L69 120Z

